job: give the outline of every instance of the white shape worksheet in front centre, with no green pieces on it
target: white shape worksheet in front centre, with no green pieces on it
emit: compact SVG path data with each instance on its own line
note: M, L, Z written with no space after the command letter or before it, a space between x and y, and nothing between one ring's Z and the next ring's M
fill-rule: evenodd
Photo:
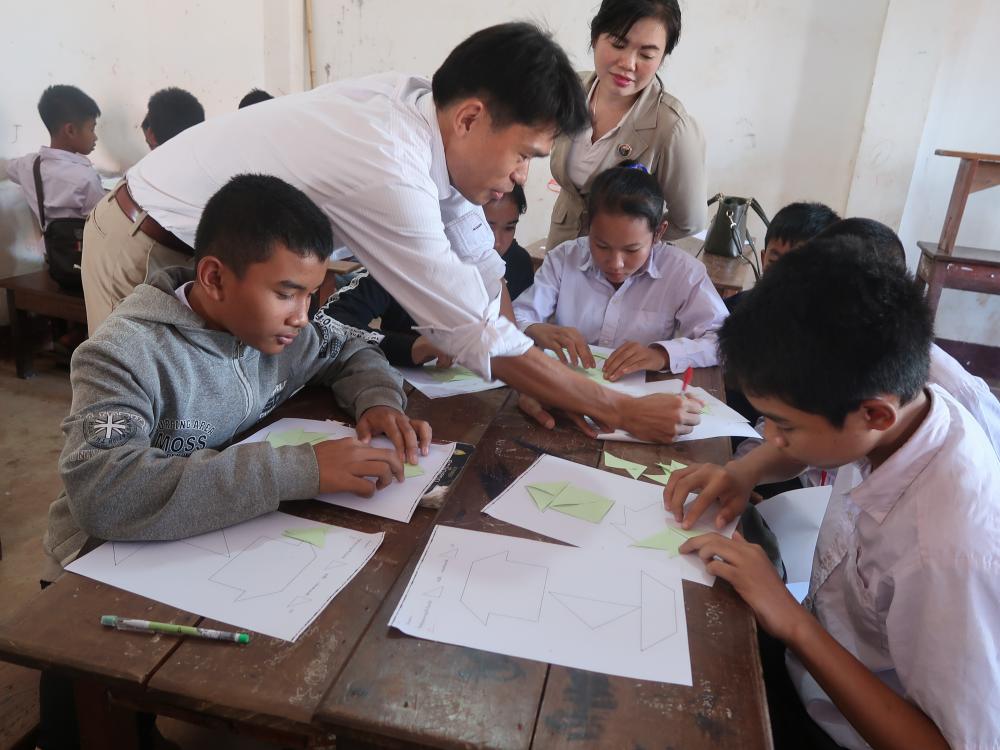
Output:
M681 581L655 561L435 526L389 624L443 643L691 685Z

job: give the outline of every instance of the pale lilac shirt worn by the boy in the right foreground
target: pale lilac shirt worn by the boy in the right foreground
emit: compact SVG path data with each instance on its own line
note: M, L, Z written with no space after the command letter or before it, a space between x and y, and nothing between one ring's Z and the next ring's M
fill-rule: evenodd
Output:
M874 471L837 472L805 604L949 745L1000 743L1000 460L938 386L910 439ZM809 715L845 748L867 748L790 651Z

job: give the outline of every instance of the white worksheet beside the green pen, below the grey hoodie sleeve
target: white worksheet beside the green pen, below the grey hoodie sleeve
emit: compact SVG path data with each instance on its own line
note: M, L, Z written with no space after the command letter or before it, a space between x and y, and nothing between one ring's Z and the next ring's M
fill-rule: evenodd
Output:
M286 529L309 527L327 530L323 547L282 536ZM175 542L105 542L66 569L294 641L371 559L384 536L274 512Z

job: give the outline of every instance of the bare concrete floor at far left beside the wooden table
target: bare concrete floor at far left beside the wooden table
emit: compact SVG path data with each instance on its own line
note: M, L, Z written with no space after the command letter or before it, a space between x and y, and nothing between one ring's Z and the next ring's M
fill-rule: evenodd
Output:
M0 620L38 596L38 571L44 553L41 538L45 531L49 503L59 494L56 472L62 450L60 423L69 411L71 392L69 371L50 358L36 359L38 375L19 380L10 357L0 359ZM27 670L0 663L0 726L10 717L3 711L37 710L23 700L13 708L9 699L15 685L23 686L34 677ZM30 701L30 692L22 698ZM160 719L160 731L185 750L270 750L277 745L256 742L183 722ZM0 732L0 750L5 750Z

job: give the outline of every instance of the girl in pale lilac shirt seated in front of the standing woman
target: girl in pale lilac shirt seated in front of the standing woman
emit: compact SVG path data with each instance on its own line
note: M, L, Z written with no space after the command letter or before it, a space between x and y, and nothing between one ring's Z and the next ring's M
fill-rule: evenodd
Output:
M514 303L518 327L573 365L595 366L590 344L614 348L609 380L716 364L726 307L704 264L660 241L667 207L656 178L634 162L612 167L587 203L590 235L545 256Z

